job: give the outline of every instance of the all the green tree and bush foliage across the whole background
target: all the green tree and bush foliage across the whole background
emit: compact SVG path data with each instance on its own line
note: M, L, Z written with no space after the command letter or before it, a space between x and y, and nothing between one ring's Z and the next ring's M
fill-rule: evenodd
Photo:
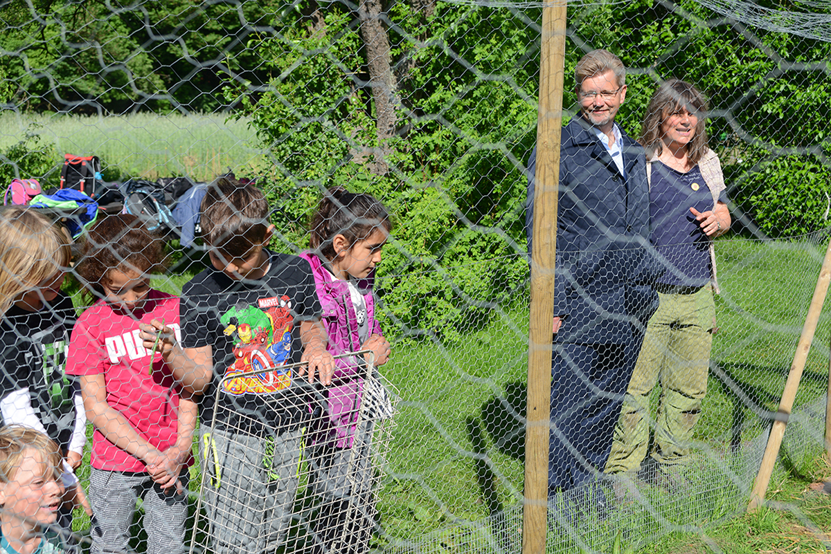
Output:
M735 207L772 236L826 225L828 110L804 107L831 90L829 43L748 31L692 0L576 4L568 17L567 114L573 67L592 48L631 68L618 121L635 136L656 82L691 80L711 98L711 147ZM7 2L0 100L247 117L283 247L304 244L325 187L372 192L396 215L380 275L387 313L401 333L453 340L527 279L540 19L538 7L429 0Z

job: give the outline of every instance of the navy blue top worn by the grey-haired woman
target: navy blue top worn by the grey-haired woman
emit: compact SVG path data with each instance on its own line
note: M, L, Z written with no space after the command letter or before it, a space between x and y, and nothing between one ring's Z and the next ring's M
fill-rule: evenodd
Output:
M721 192L719 202L727 202ZM710 239L692 215L713 209L713 195L696 165L687 173L677 172L661 162L652 163L649 215L652 244L666 272L658 282L701 287L710 282Z

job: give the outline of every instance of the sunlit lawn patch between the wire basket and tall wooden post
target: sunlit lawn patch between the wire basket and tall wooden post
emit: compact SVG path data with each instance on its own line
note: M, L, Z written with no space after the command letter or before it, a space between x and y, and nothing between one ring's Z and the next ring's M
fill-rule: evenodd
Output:
M524 312L501 314L458 347L396 347L382 369L403 399L380 506L393 536L519 501L527 325Z

